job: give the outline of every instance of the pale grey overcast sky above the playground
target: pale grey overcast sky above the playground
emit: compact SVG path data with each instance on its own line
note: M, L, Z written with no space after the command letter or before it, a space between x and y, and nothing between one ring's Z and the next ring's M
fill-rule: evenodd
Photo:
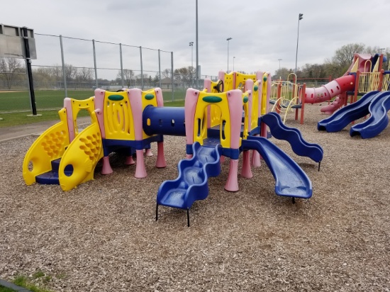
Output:
M195 0L7 0L0 22L27 26L35 32L38 60L33 65L60 64L58 38L122 43L123 64L140 67L139 47L165 50L162 68L191 66L196 42ZM199 64L201 74L220 69L255 72L294 68L299 13L298 67L322 63L350 43L390 47L389 0L199 0ZM91 42L63 40L65 62L93 67ZM196 64L196 43L193 62ZM143 49L144 70L158 71L157 51ZM96 43L98 67L120 68L119 46ZM109 70L101 70L107 74ZM113 70L111 70L113 71ZM117 70L115 70L117 72ZM151 74L154 76L155 74Z

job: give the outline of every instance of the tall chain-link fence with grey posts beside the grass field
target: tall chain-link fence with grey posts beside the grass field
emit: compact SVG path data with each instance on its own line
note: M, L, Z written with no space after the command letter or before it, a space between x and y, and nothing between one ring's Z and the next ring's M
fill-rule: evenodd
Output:
M65 97L86 99L94 89L160 87L165 101L183 100L196 84L193 67L174 69L174 54L148 47L35 33L33 84L38 111L60 109ZM184 71L184 72L183 72ZM0 58L0 113L30 111L26 60Z

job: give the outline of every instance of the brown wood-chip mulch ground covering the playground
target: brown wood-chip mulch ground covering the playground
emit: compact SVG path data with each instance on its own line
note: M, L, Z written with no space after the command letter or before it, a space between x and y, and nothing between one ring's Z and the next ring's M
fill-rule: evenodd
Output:
M35 137L0 143L0 278L43 271L33 281L52 291L390 291L390 127L368 140L350 137L350 126L318 132L320 108L286 125L323 147L321 172L272 138L308 174L312 198L276 196L265 163L239 178L240 191L224 191L226 161L191 208L190 228L184 210L161 206L155 221L184 137L165 138L165 169L145 158L146 179L113 155L113 174L98 165L94 181L67 192L24 183Z

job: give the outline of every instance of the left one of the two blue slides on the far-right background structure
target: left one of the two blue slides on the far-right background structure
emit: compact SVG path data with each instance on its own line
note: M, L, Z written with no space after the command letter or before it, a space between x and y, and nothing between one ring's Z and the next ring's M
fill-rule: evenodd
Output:
M340 108L329 118L320 120L317 124L317 129L326 130L330 133L338 132L352 123L352 121L368 115L369 104L378 93L379 91L370 91L368 94L364 94L364 96L355 103Z

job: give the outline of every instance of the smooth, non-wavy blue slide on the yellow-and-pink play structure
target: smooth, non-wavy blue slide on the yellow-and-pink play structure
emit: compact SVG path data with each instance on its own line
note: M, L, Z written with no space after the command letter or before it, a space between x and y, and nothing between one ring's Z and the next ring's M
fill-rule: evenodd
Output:
M248 136L242 141L243 150L257 150L276 181L275 193L292 198L310 198L311 181L289 155L264 137Z

